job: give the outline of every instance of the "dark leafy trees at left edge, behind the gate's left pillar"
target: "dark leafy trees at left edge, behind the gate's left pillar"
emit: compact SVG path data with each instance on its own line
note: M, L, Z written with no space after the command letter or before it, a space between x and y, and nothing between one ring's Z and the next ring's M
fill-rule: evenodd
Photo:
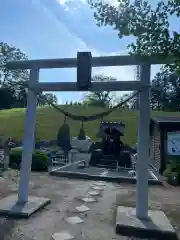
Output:
M26 60L27 56L20 49L0 42L0 109L24 108L27 106L27 94L24 83L29 79L27 70L7 70L5 64L8 61ZM53 103L57 103L57 98L53 94L45 94L46 98ZM38 104L47 104L38 97Z

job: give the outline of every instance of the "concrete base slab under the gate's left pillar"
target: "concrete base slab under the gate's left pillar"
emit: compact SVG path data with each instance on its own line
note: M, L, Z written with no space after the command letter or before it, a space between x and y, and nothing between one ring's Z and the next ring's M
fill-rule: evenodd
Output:
M28 201L20 204L17 195L10 195L0 200L0 216L28 218L33 213L51 203L51 200L43 197L29 196Z

